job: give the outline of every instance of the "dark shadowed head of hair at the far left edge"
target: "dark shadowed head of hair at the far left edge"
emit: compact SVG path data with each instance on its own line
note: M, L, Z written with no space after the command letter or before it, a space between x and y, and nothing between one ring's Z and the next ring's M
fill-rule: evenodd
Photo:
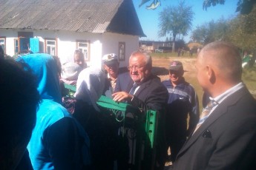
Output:
M27 65L3 59L0 62L0 78L0 156L8 159L6 165L1 163L2 168L13 163L13 150L29 142L40 97L36 78Z

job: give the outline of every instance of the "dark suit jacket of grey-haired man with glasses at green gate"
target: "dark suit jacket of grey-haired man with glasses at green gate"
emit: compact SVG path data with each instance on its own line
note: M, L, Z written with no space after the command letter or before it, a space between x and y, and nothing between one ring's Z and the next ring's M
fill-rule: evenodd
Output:
M129 84L128 89L131 89L133 85ZM165 143L165 108L168 101L168 91L163 86L160 81L160 78L157 76L151 75L147 80L140 84L140 88L135 92L134 98L131 101L132 106L140 107L144 110L153 109L159 111L158 114L158 126L157 126L157 145L156 145L156 162L160 167L164 166L165 156L166 156L166 143ZM147 153L145 153L147 155ZM150 169L148 163L151 163L150 158L145 158L145 163L142 163L142 169ZM149 162L148 162L149 161ZM154 169L157 169L154 167Z

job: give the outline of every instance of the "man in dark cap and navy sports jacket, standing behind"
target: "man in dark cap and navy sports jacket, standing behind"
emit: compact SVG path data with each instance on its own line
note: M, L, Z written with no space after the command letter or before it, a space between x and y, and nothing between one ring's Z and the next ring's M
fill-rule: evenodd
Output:
M184 69L180 61L171 61L169 67L169 80L163 81L168 89L168 109L166 114L166 140L171 148L170 160L174 162L186 137L197 125L199 119L199 106L194 87L183 78ZM187 118L189 125L187 129ZM168 148L167 148L168 149Z

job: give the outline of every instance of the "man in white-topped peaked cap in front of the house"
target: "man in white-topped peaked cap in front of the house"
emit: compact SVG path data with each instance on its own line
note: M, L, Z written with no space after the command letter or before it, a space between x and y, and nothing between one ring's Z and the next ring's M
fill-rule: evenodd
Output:
M107 72L107 80L105 81L105 96L112 98L116 86L116 79L119 73L119 61L116 54L106 54L102 57L102 63L105 71Z

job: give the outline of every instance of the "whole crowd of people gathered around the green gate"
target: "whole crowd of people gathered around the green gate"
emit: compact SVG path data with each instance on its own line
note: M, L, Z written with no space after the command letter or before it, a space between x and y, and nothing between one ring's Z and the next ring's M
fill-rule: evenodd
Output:
M141 50L131 53L127 72L114 53L102 56L102 69L87 67L79 50L64 65L43 53L0 55L0 169L256 169L256 101L230 43L212 42L197 55L202 113L180 61L161 81ZM76 86L72 112L63 84ZM114 114L97 104L102 95L139 112ZM138 124L148 110L157 112L153 147Z

